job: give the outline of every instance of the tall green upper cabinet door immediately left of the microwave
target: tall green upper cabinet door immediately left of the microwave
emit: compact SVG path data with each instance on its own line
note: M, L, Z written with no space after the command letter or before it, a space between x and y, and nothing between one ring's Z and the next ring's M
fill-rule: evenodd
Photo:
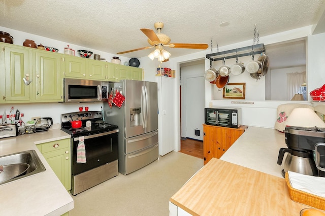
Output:
M63 101L61 79L61 56L43 50L32 51L35 99L41 101Z

